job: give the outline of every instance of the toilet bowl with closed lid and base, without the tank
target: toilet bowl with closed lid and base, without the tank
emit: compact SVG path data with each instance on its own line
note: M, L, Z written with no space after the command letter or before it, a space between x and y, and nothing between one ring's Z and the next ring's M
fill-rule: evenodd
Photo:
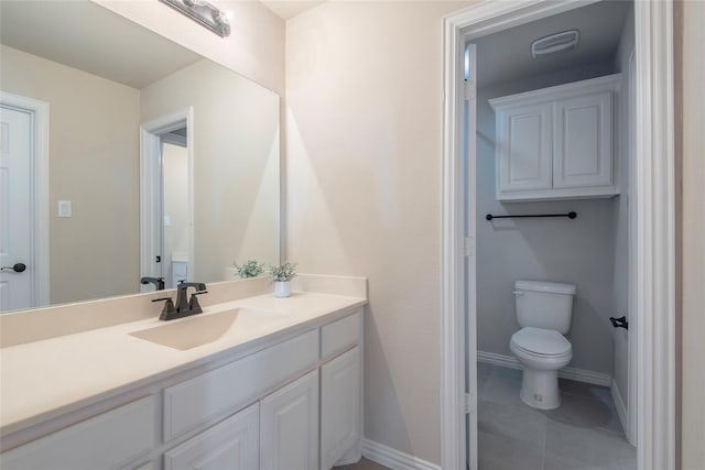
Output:
M509 348L523 369L521 401L539 409L561 406L558 370L573 359L571 342L555 330L524 327L512 335Z

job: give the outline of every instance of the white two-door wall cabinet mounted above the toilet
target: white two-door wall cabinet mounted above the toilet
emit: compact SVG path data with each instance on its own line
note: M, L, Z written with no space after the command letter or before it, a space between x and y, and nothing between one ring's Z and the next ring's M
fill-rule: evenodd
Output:
M490 99L496 197L521 201L611 197L620 75Z

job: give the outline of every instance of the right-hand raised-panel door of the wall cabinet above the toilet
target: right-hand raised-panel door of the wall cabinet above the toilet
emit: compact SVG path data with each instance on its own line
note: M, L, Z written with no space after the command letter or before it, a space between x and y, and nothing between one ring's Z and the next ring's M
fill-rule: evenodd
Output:
M553 187L611 185L611 94L555 101L553 123Z

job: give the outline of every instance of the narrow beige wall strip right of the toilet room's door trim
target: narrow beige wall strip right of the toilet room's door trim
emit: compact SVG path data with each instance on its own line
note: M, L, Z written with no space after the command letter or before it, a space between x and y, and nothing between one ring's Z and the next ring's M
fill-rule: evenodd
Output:
M705 2L682 1L682 414L683 470L705 468ZM679 116L679 114L676 114Z

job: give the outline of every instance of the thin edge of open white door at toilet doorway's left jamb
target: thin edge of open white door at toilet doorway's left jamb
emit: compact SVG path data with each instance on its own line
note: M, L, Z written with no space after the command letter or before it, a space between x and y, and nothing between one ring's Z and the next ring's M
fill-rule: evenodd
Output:
M477 129L477 47L469 44L465 53L465 154L466 162L475 162L475 157L469 159L476 152L476 129ZM473 132L470 132L473 131ZM467 164L465 168L465 343L467 352L465 358L465 393L467 400L467 468L477 470L477 321L476 321L476 266L475 266L475 231L469 227L475 227L476 206L476 175L475 164Z

